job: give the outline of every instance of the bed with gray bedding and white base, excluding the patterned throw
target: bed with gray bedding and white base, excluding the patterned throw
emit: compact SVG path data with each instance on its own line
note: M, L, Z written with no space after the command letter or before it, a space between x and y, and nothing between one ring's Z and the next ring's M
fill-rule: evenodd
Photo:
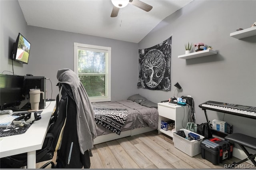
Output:
M120 132L113 132L112 129L109 130L100 123L97 124L97 137L94 139L94 144L133 136L158 128L157 104L139 94L132 95L127 100L92 103L92 106L96 112L95 115L101 109L117 109L127 113Z

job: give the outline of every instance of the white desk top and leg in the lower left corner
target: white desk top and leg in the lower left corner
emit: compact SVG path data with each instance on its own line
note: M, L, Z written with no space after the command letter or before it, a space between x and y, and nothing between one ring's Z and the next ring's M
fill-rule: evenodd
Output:
M27 168L36 168L36 150L40 150L42 148L44 138L48 130L50 117L55 106L56 101L46 102L47 108L41 113L42 119L35 121L24 134L0 138L0 158L27 152ZM0 116L2 117L6 115L7 114Z

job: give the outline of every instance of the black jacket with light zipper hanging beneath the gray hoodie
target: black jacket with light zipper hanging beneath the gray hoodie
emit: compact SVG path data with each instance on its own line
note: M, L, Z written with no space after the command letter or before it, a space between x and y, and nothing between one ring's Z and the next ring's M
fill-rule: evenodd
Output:
M61 146L57 151L56 168L90 168L91 150L86 150L83 154L80 151L77 132L77 105L72 94L72 89L68 84L58 83L62 91L59 114L66 115L65 126L63 127Z

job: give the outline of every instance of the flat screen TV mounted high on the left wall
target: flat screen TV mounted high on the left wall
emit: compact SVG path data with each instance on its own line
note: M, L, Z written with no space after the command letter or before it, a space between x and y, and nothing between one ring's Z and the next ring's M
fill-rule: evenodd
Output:
M12 59L20 63L28 64L30 45L30 42L19 33L13 45Z

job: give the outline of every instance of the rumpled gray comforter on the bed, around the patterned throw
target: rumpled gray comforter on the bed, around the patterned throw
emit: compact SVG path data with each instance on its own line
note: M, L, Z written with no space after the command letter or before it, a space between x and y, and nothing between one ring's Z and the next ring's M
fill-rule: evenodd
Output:
M122 131L133 130L141 127L150 127L152 129L158 128L158 111L156 108L145 107L130 100L97 102L92 103L92 106L94 108L127 109L128 117L124 123ZM100 125L97 125L97 127L97 136L113 133Z

